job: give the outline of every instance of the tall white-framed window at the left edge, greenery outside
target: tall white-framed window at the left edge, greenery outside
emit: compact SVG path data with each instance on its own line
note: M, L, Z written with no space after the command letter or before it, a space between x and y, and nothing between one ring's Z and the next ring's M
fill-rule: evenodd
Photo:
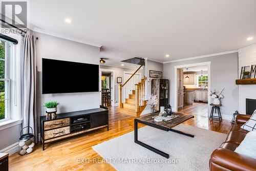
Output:
M9 118L9 46L7 41L0 39L0 121Z

